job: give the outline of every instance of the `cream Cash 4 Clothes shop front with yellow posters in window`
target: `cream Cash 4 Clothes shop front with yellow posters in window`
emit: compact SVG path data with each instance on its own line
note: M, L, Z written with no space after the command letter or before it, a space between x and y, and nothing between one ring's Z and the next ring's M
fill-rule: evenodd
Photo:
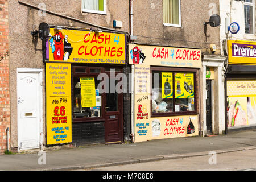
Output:
M201 50L129 44L134 142L199 135Z

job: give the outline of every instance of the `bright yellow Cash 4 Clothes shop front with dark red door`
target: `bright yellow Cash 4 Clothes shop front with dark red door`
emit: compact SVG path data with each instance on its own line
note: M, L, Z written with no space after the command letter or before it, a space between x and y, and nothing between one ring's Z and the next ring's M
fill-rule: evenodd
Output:
M46 144L122 143L125 34L66 28L50 33Z

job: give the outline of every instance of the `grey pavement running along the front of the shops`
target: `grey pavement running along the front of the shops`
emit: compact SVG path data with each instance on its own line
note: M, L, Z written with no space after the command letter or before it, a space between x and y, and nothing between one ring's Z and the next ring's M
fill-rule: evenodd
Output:
M95 144L26 154L0 155L3 171L77 170L156 160L189 158L242 150L256 150L256 130L213 137L158 139L139 143ZM45 156L45 158L43 158ZM45 160L42 160L45 159ZM45 162L45 164L43 163Z

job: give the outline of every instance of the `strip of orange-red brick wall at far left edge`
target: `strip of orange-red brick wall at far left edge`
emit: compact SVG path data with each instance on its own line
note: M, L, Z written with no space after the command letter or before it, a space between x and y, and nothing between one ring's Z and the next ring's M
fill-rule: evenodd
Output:
M8 1L0 0L0 154L6 148L6 129L10 129L8 45ZM9 134L10 143L10 134Z

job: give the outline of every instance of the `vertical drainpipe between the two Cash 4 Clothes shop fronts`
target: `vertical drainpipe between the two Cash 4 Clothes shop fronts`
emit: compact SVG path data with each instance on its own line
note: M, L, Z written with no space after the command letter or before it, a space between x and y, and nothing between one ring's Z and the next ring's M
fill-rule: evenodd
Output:
M133 0L130 0L130 35L133 36ZM131 65L131 141L134 143L134 65Z

